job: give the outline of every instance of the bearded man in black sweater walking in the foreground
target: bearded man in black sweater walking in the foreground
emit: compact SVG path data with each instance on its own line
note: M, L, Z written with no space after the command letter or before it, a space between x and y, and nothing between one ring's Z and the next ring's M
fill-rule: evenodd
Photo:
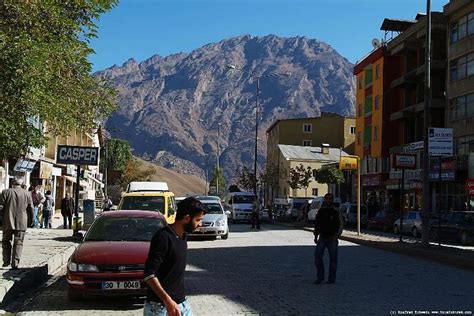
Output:
M148 284L145 316L193 314L184 293L186 234L201 226L204 212L199 200L186 198L178 205L175 222L153 236L144 271Z

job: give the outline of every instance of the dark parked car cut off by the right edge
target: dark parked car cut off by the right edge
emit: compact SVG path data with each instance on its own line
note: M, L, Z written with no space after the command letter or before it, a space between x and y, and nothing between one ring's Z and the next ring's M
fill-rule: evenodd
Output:
M467 245L474 242L474 212L450 212L441 219L438 229L438 221L430 222L430 239L454 240Z

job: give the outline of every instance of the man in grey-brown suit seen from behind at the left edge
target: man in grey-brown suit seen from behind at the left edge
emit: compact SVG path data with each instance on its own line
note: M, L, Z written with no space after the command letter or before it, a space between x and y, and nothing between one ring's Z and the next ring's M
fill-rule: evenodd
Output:
M3 266L11 264L13 270L18 269L28 219L33 218L33 201L31 194L23 190L20 179L13 180L11 189L3 190L0 195L0 205L3 206ZM12 239L13 253L12 253ZM13 260L12 260L13 259Z

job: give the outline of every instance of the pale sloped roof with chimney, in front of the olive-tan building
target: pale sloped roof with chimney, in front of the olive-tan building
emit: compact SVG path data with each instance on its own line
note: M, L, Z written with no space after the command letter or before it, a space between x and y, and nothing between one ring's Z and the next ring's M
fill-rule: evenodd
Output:
M323 154L321 147L278 145L283 157L289 160L313 160L339 162L340 156L349 154L339 148L329 148L329 154Z

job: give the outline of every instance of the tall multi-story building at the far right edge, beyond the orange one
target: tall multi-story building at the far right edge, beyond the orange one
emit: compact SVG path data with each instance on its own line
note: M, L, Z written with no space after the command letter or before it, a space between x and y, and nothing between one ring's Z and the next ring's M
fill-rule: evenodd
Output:
M449 26L446 126L453 129L456 172L442 186L441 207L463 210L467 202L472 209L474 197L466 201L465 183L474 178L474 2L451 0L443 11Z

